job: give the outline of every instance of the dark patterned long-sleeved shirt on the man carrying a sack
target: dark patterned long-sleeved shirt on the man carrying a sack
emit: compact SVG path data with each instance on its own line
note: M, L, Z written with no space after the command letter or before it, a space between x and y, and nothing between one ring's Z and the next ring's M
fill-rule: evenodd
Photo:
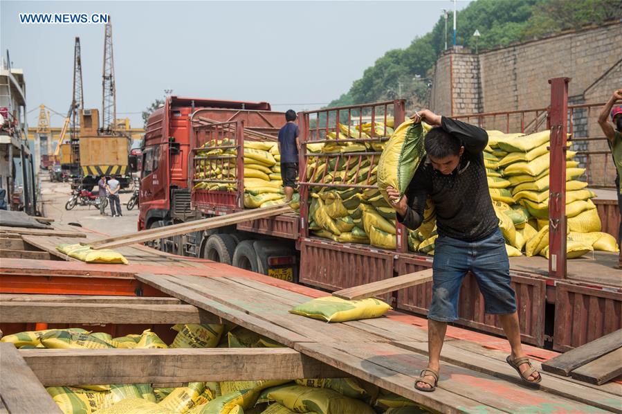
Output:
M482 240L499 224L484 166L488 134L482 128L445 116L441 118L441 128L464 145L460 162L451 174L443 175L432 168L428 159L423 159L406 190L408 209L404 217L398 214L397 219L408 228L418 228L429 196L436 206L439 235L465 242Z

